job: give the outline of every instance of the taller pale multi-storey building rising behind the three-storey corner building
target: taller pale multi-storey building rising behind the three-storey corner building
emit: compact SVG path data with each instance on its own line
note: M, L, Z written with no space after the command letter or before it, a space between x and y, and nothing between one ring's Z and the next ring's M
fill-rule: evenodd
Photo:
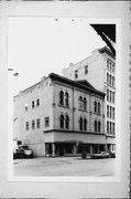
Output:
M85 60L64 69L62 75L70 80L87 80L105 92L105 133L108 150L116 150L116 57L107 46L92 51Z

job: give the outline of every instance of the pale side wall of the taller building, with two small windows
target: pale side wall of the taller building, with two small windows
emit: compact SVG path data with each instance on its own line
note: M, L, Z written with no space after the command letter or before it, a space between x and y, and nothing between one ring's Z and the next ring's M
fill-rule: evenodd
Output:
M87 80L97 90L105 92L105 85L107 84L107 60L114 62L114 59L107 53L100 53L95 50L92 54L76 63L70 64L69 67L62 71L62 75L72 80ZM75 77L75 73L78 73L78 77ZM109 72L110 73L110 72Z

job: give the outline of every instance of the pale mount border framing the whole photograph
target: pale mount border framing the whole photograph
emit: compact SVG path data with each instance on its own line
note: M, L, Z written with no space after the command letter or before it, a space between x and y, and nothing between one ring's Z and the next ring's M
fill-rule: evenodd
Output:
M109 9L110 7L110 9ZM105 198L105 197L129 197L129 153L130 153L130 142L129 137L129 98L128 98L128 88L127 77L129 76L129 71L123 69L125 65L129 65L129 57L125 54L127 49L129 48L129 4L128 2L2 2L1 4L1 48L0 52L1 67L0 67L0 80L2 86L0 87L1 93L1 111L3 118L1 119L1 168L3 169L1 175L0 185L0 196L2 197L94 197L94 198ZM118 9L118 10L117 10ZM124 11L124 14L122 13ZM127 13L125 13L127 11ZM12 153L11 153L11 140L12 140L12 85L8 84L8 18L9 17L46 17L46 18L88 18L91 19L90 23L102 23L105 20L106 23L117 23L117 116L120 125L117 127L117 156L119 161L117 163L117 178L108 178L102 180L90 179L89 181L84 178L76 177L74 179L46 179L40 180L29 178L15 178L11 171L12 167ZM125 38L128 35L128 38ZM129 52L129 51L128 51ZM129 82L128 82L129 83ZM9 87L10 86L10 87ZM10 90L9 90L10 88ZM124 88L124 90L123 90ZM10 91L10 92L8 92ZM122 91L122 92L121 92ZM127 95L127 97L124 96ZM8 97L8 102L7 102ZM123 97L125 97L123 100ZM2 104L7 102L8 106ZM125 102L123 105L122 103ZM8 114L10 113L10 114ZM8 125L8 127L7 127ZM10 134L9 134L10 132ZM121 135L121 136L119 136ZM3 154L2 154L3 153ZM7 158L8 155L8 158ZM125 163L127 160L127 163ZM1 170L2 170L1 169ZM8 170L8 171L7 171ZM44 177L45 178L45 177ZM48 177L47 177L48 178ZM58 177L59 178L59 177ZM78 180L79 178L79 180ZM100 182L100 184L99 184ZM23 188L29 188L26 191L23 191ZM52 189L52 191L51 191ZM40 192L41 190L41 192ZM70 192L72 191L72 192Z

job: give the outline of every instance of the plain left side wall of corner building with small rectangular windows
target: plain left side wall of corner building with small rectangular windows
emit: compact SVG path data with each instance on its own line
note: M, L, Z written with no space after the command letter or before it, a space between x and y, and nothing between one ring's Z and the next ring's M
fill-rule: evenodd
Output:
M44 129L53 128L52 106L53 86L48 77L21 92L14 97L13 117L18 118L14 122L14 136L30 142L42 140ZM50 118L48 126L45 126L45 117ZM37 127L37 119L40 127ZM32 121L34 121L34 128ZM26 122L29 129L26 129Z

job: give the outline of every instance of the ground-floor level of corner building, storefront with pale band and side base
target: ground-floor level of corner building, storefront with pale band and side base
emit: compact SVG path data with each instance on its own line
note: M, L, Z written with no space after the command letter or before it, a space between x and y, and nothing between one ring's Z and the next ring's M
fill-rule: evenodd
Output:
M63 157L79 156L83 151L88 155L100 151L114 151L114 137L106 137L105 134L56 132L43 134L44 142L25 143L34 151L34 156Z

